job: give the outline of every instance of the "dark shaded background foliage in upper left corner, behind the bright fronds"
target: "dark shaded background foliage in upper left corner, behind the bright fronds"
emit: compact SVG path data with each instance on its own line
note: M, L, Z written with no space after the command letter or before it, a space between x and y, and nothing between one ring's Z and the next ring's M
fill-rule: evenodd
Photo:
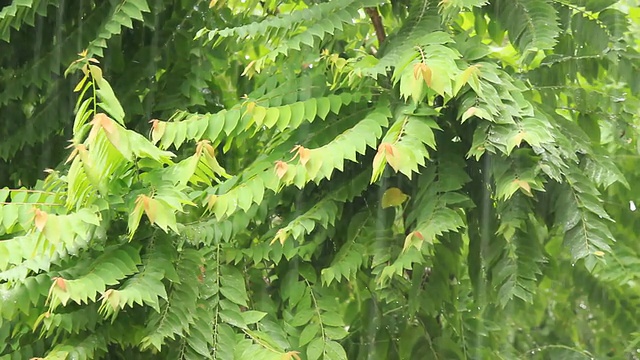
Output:
M222 20L229 11L173 0L4 3L10 5L0 10L0 186L33 185L44 168L64 160L49 149L72 136L72 90L80 77L77 66L68 68L83 50L101 57L127 109L127 126L139 132L178 108L217 110L237 97L227 84L241 70L228 66L223 51L192 41L204 26L234 24ZM28 166L25 158L35 161Z

